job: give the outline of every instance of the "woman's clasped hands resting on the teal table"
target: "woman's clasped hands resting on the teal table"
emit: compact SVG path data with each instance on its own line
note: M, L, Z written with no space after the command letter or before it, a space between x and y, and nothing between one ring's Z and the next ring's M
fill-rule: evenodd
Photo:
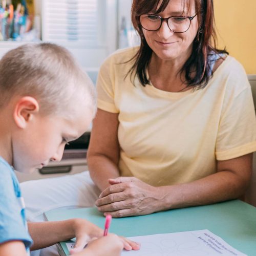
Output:
M98 210L114 218L147 215L161 210L162 189L142 182L135 177L109 179L96 201Z

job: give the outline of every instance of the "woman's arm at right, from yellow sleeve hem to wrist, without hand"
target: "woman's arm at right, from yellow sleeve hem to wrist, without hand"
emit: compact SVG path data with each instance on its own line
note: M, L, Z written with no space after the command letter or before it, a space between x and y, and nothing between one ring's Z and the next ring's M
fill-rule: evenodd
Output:
M217 169L217 173L190 183L162 187L163 201L169 208L182 208L238 198L251 178L252 154L218 161Z

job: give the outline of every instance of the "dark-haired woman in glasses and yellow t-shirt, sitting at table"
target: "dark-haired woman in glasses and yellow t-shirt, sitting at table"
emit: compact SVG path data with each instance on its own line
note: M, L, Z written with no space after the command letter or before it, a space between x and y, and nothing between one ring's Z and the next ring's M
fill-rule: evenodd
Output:
M99 211L145 215L243 195L256 120L241 65L215 47L212 0L134 0L139 48L98 77L88 152Z

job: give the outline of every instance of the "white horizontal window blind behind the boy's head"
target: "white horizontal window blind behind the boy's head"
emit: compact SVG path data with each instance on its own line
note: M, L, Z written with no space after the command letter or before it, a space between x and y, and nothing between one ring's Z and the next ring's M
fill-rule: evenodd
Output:
M42 1L42 40L97 48L102 45L104 3L103 0Z

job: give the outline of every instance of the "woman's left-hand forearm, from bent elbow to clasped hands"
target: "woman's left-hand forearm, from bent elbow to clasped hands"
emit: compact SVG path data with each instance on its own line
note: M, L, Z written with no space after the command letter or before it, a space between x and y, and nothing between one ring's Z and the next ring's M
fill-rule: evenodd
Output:
M118 166L104 155L91 155L87 159L90 176L102 191L110 184L108 179L119 177Z

